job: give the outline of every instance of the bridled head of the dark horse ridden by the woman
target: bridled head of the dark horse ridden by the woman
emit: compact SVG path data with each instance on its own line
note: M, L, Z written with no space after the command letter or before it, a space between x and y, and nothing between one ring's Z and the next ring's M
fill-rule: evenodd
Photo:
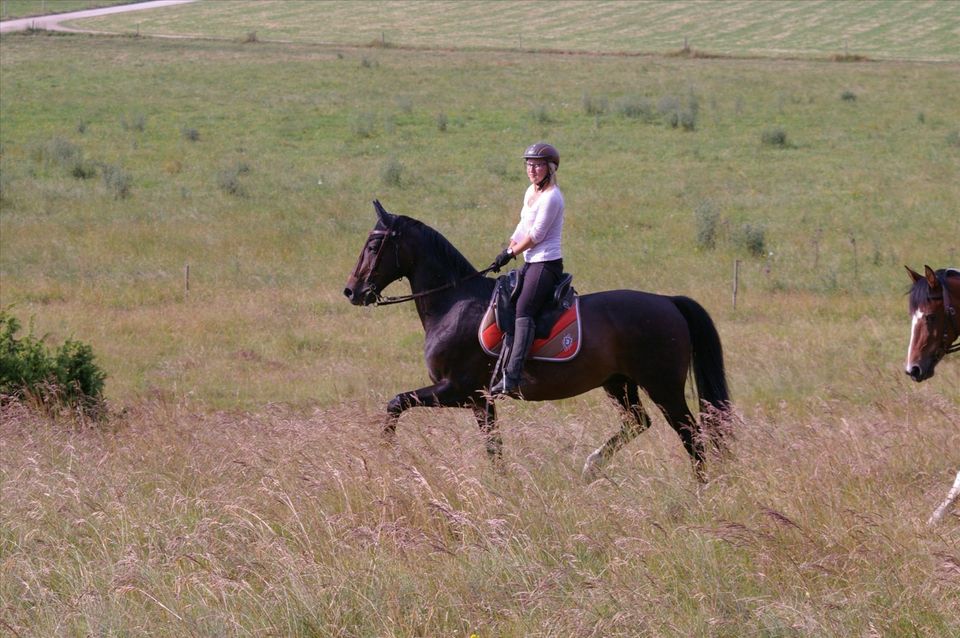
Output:
M355 306L376 303L381 291L403 275L397 242L398 217L384 210L379 201L374 201L373 206L377 211L377 224L367 235L357 266L343 289L343 294Z

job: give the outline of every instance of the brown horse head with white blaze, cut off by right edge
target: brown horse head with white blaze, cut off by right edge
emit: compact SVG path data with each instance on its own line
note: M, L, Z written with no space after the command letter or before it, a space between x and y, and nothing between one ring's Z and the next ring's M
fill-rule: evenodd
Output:
M924 266L924 274L907 268L913 286L910 288L910 345L907 348L905 372L920 382L933 376L943 357L960 351L960 270L934 270Z

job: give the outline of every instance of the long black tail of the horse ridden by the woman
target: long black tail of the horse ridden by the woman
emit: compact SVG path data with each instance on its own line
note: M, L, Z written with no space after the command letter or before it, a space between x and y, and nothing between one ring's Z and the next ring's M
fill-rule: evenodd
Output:
M693 345L693 377L701 404L724 414L729 409L730 390L723 366L723 346L713 319L703 306L689 297L671 297L671 301L687 320ZM701 405L701 408L704 407Z

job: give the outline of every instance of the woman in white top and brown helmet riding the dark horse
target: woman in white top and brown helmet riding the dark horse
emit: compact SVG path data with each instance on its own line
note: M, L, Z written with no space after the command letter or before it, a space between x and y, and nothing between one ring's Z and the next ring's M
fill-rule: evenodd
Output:
M557 186L560 153L546 142L537 142L523 153L530 186L523 196L520 223L507 246L493 262L497 271L523 253L523 268L517 283L516 322L513 347L504 366L503 378L490 394L517 396L523 363L533 345L537 315L553 294L563 274L563 193Z

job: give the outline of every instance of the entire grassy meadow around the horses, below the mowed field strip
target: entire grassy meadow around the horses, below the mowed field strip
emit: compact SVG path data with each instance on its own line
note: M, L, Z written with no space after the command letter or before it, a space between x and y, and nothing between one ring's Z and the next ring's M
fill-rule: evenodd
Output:
M960 634L960 526L924 525L960 362L901 369L903 265L960 265L955 58L278 43L229 22L259 4L176 11L213 5L234 41L0 39L0 306L90 343L111 407L3 407L0 633ZM370 200L484 266L536 139L577 288L717 323L736 438L706 487L659 415L580 484L618 424L596 392L505 402L500 467L462 411L378 437L428 380L412 308L342 295Z

